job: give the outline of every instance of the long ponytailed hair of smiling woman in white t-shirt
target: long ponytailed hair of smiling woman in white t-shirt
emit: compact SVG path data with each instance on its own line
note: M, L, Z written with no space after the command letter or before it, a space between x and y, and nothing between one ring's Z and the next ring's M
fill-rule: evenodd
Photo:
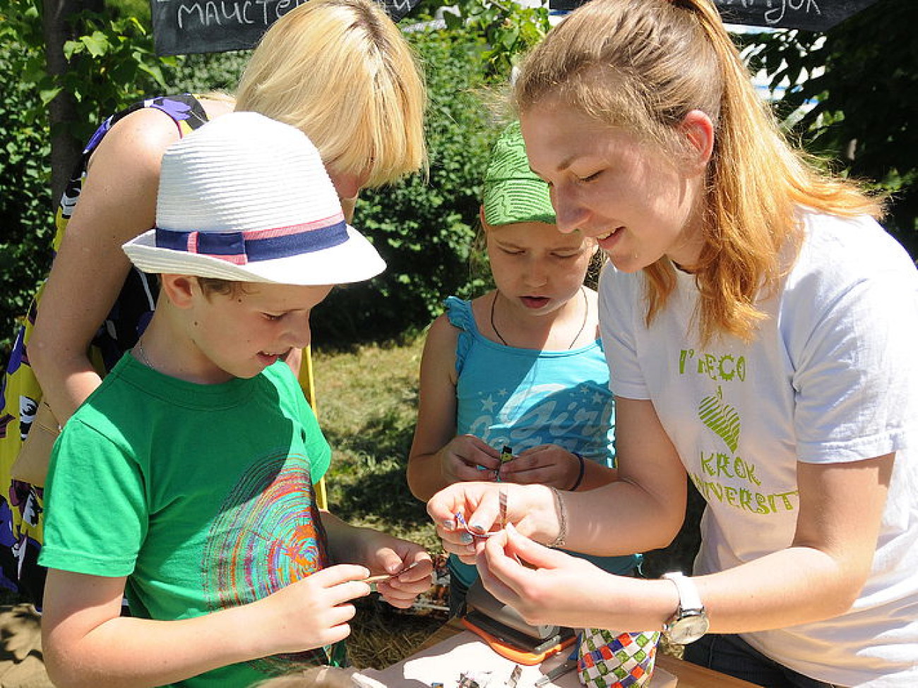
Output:
M800 247L800 205L840 216L879 216L854 183L819 171L793 149L756 94L751 76L709 0L592 0L549 32L521 66L521 112L543 98L676 156L678 125L691 110L714 124L703 207L704 247L695 278L702 342L752 338L760 294ZM644 268L649 326L676 286L664 258Z

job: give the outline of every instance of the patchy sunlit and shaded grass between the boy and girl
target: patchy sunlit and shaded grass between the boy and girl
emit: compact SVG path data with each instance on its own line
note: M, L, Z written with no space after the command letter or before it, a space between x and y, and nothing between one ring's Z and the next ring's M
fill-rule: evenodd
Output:
M327 483L332 513L442 549L424 505L410 493L405 469L414 433L423 338L313 351L319 423L332 448ZM647 552L644 575L690 571L698 549L700 496L692 493L682 532L666 549ZM353 663L377 669L404 659L444 617L398 612L375 600L358 605L348 644ZM678 648L664 648L678 654Z

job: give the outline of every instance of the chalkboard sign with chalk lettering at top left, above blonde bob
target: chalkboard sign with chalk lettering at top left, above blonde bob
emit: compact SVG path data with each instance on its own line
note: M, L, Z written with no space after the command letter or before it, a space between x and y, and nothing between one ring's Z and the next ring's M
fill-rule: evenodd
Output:
M156 54L249 50L275 20L307 1L151 0ZM386 0L381 4L398 21L418 2Z

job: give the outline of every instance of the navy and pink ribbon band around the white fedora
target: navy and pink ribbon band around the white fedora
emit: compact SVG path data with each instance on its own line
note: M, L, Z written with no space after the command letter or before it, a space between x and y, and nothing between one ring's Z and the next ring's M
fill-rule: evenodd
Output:
M330 249L347 240L347 223L341 213L301 225L241 232L156 227L157 248L196 253L233 265L291 258Z

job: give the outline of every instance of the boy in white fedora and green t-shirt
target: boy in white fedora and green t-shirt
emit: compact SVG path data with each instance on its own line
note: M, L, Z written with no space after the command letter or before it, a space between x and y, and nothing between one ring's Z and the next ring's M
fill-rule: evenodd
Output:
M334 663L366 579L394 574L378 590L406 607L432 565L319 511L330 448L282 359L331 285L385 263L307 137L254 113L166 151L156 220L124 247L160 275L155 314L52 456L51 679L229 688Z

